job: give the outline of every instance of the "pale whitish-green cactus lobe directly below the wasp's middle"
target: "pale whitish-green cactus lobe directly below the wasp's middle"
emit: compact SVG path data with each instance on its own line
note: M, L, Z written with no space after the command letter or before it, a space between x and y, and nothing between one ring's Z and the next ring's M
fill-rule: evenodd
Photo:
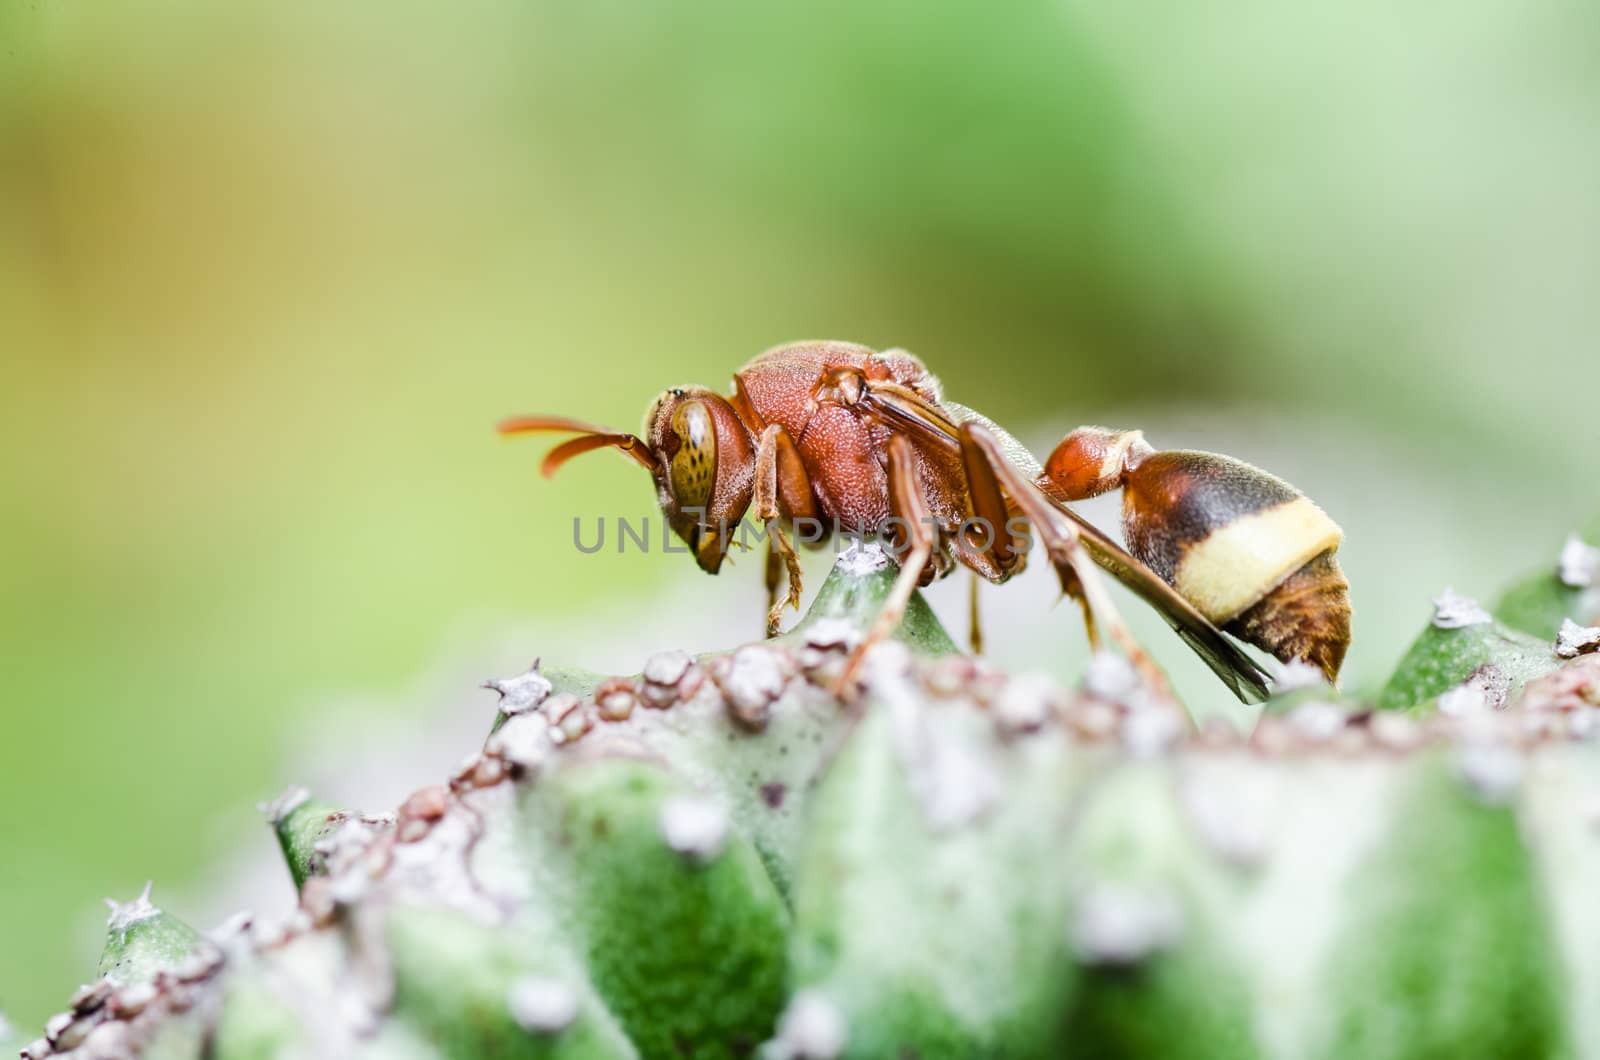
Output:
M1054 868L1086 756L904 692L869 705L811 805L794 985L851 1057L1027 1055L1072 982Z

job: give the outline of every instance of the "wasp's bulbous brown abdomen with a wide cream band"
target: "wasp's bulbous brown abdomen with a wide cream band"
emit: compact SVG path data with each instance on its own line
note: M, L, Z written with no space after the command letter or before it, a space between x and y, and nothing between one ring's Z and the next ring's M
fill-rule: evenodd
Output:
M1342 532L1288 482L1230 456L1155 452L1125 474L1123 533L1213 623L1338 677L1350 644Z

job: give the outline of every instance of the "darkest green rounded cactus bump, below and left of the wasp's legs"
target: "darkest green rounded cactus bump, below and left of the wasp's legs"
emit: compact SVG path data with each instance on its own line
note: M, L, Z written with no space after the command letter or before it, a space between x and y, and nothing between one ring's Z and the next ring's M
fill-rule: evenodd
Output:
M782 1001L787 911L726 810L650 762L576 764L523 801L595 986L645 1055L739 1055Z

